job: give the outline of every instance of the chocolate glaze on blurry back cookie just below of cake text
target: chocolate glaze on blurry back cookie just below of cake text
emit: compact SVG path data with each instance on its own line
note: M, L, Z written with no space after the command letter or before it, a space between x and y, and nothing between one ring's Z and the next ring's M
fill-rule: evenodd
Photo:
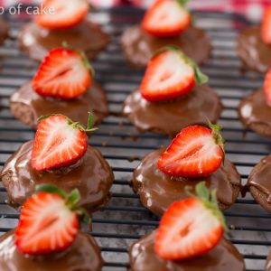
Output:
M85 51L91 59L107 47L109 39L98 24L88 20L63 30L48 30L28 23L19 34L19 46L35 61L42 61L48 51L60 47L62 42Z

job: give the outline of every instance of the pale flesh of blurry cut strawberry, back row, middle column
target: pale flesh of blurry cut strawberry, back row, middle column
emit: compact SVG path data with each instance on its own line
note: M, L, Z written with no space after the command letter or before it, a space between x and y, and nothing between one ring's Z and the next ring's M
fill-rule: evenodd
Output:
M148 25L153 30L163 28L171 29L176 23L182 23L187 20L187 11L176 1L168 0L160 5L160 8L154 10L150 16Z

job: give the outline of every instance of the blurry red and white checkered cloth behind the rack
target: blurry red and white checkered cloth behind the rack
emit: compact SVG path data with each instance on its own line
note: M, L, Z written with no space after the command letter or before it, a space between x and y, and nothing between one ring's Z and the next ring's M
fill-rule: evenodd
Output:
M93 5L136 5L146 7L154 0L89 0ZM39 0L0 0L0 6L9 6L16 3L38 3ZM235 12L244 14L250 20L261 19L264 9L271 5L271 0L190 0L188 5L194 10L209 10L220 12Z

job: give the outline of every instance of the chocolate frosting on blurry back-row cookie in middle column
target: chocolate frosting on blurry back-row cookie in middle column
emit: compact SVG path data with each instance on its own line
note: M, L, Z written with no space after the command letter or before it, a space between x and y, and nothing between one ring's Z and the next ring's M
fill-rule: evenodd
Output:
M182 51L197 63L208 60L211 51L209 36L200 28L189 27L174 38L156 38L135 25L125 31L121 38L126 59L135 68L144 68L154 52L167 45L179 46Z

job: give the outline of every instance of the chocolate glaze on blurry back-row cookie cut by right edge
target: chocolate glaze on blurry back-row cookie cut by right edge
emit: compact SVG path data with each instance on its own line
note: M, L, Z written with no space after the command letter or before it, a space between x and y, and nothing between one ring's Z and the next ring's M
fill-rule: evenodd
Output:
M237 50L245 69L264 73L271 66L271 45L262 41L260 26L239 33Z

